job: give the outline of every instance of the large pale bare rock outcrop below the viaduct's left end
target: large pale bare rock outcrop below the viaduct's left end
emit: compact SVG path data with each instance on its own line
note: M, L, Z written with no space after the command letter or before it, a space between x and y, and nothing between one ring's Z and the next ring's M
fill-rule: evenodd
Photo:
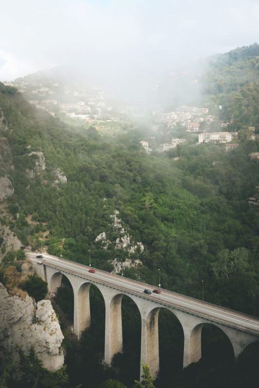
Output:
M63 339L51 301L36 304L28 295L23 301L9 296L0 283L0 346L11 357L17 357L17 346L26 355L33 347L43 367L53 372L64 363Z

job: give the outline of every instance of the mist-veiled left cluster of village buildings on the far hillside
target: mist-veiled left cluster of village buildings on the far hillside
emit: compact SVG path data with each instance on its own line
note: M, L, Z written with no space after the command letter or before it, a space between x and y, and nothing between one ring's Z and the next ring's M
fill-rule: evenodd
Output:
M5 82L5 85L16 87L37 109L45 110L52 116L80 120L89 125L93 122L123 121L124 115L143 115L137 106L128 102L118 104L99 86L84 87L76 83L67 85L25 79Z

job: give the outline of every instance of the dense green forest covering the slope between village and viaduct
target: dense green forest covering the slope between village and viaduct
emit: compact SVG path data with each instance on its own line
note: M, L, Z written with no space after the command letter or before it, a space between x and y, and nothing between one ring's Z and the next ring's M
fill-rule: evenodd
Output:
M120 236L110 216L119 210L132 241L144 244L143 253L137 250L132 256L143 266L131 269L128 276L156 284L160 268L162 287L198 298L204 280L206 300L253 312L251 295L259 293L259 222L248 197L258 185L259 171L248 153L258 149L257 142L244 141L231 152L224 146L181 145L174 151L180 156L175 163L168 157L172 153L142 153L139 128L129 127L116 139L106 135L89 140L47 113L38 117L19 94L4 91L0 101L13 128L2 129L14 164L9 174L15 193L8 199L14 221L9 224L24 243L39 247L40 237L50 253L82 263L88 263L90 250L94 266L110 269L109 260L128 256L115 249ZM33 179L26 170L37 158L28 159L28 146L30 152L40 150L45 156L46 170L35 170ZM57 167L68 178L66 184L53 185ZM28 214L41 226L29 225ZM103 231L111 242L106 251L95 242ZM245 274L253 274L254 280L238 301L238 274L229 282L232 291L228 285L221 294L224 279L213 272L212 263L220 252L242 247L249 250Z

